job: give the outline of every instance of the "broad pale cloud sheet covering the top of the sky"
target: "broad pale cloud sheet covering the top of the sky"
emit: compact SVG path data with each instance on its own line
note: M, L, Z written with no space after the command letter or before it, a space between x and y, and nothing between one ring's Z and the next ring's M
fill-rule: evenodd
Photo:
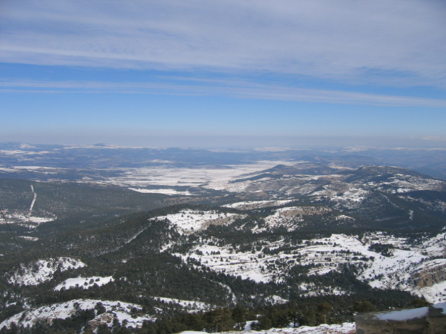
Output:
M1 6L5 63L446 87L444 1L24 0Z

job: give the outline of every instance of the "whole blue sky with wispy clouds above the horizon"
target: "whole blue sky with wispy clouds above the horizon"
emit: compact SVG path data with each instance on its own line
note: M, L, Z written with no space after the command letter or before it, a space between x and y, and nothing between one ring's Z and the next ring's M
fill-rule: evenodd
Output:
M443 0L2 0L0 141L446 146Z

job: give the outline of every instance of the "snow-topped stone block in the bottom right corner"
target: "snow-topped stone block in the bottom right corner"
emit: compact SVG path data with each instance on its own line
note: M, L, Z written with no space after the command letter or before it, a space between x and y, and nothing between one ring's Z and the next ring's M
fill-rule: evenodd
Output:
M356 334L445 334L446 303L355 317Z

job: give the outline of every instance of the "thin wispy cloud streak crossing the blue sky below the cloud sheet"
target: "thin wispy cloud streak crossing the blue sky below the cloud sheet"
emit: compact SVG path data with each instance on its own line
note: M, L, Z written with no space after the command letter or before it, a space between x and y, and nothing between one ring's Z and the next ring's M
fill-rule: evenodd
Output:
M165 95L222 95L256 100L319 102L335 104L365 104L377 106L424 106L444 108L446 100L394 95L352 93L341 90L295 88L249 81L199 80L194 84L103 81L0 81L0 92L8 93L121 93Z

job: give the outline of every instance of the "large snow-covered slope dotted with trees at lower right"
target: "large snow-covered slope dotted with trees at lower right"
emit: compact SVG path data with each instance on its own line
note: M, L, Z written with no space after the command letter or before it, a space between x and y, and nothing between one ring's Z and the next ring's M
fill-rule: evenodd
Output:
M213 240L209 239L191 248L187 254L176 255L185 262L193 258L213 271L256 282L283 282L293 265L311 266L309 275L324 275L338 271L342 264L355 264L359 269L357 278L371 287L410 291L424 296L432 303L438 303L446 296L446 260L429 260L430 256L436 254L429 254L429 250L446 250L444 235L439 234L425 239L418 246L410 246L405 238L383 232L366 233L362 239L346 234L332 234L328 238L303 240L298 244L290 244L282 239L246 251L231 245L215 246ZM371 248L377 242L392 244L394 248L389 256ZM426 282L422 282L422 277ZM299 289L302 296L346 293L337 287L315 290L311 284L301 285Z

